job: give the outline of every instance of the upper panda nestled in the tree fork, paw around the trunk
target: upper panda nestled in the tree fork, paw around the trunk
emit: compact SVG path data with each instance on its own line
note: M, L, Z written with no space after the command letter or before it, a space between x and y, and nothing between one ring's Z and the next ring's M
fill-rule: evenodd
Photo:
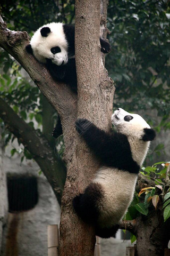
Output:
M100 44L101 52L111 51L111 46L105 39L100 38ZM39 62L46 64L56 81L67 83L72 91L77 91L73 25L52 22L40 27L26 50Z

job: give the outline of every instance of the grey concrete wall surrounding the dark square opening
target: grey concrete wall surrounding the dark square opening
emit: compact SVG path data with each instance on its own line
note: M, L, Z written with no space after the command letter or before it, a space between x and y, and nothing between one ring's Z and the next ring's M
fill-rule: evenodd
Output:
M20 157L10 156L11 148L1 154L0 163L0 242L1 256L47 256L47 226L60 222L60 206L39 166L34 161L21 163ZM7 213L6 174L37 177L39 200L25 212ZM5 228L2 230L3 224Z

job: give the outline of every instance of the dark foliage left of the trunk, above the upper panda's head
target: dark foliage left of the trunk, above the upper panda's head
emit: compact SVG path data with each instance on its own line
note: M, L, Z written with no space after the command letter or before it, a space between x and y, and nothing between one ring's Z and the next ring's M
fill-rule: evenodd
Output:
M1 6L4 20L11 30L26 30L30 33L45 23L71 23L74 19L73 0L2 0Z

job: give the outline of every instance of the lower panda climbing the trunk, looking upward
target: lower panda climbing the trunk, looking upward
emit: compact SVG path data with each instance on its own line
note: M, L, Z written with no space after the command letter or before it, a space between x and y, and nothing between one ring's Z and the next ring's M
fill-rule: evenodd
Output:
M140 167L156 134L137 114L118 108L112 115L115 131L100 130L87 119L75 123L78 133L100 161L90 185L73 198L79 217L94 225L96 235L114 236L133 199Z

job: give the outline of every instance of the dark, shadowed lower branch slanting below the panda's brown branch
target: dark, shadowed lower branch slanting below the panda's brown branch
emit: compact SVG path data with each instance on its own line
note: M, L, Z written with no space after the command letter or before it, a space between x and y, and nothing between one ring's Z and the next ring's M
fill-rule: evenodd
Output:
M40 138L37 132L25 123L8 104L0 98L0 117L10 130L32 154L47 180L53 188L58 202L61 198L66 178L66 169L62 161L56 159L54 150L45 138Z

